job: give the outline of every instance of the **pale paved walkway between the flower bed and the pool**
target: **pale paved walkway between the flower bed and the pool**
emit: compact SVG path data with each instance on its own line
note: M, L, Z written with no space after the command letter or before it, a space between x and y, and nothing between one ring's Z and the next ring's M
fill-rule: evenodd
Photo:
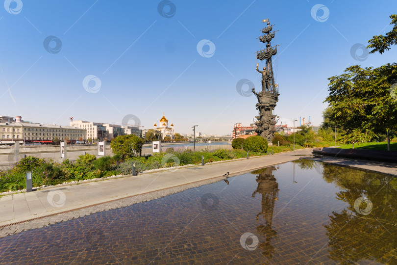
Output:
M254 169L299 159L310 155L312 149L280 153L274 156L240 159L192 166L138 176L122 177L43 188L33 192L16 193L0 198L0 226L24 222L33 218L72 211L125 197L192 184L208 179L240 175Z

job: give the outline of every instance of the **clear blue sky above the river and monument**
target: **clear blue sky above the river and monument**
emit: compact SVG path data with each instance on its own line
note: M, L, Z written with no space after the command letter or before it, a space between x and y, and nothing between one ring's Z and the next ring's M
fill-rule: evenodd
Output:
M151 129L165 112L176 132L199 125L199 132L231 133L234 123L249 125L257 115L256 99L241 96L236 84L248 79L260 90L255 67L263 62L254 52L264 47L256 38L266 18L278 30L272 44L281 44L273 67L280 92L275 114L283 124L311 116L320 125L327 78L350 65L377 67L397 57L397 47L364 54L362 61L350 54L356 43L367 46L373 35L390 31L395 0L324 0L314 17L319 2L312 0L173 0L160 8L163 16L159 3L6 0L7 10L0 8L0 115L68 125L71 116L121 124L132 114ZM57 39L48 41L47 51L48 36ZM207 57L197 49L203 39L215 49L204 46ZM89 75L100 80L99 90L87 81L96 93L83 87Z

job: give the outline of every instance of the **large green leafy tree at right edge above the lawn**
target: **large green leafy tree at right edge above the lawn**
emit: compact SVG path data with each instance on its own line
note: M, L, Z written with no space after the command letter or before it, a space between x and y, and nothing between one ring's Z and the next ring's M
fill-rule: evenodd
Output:
M346 131L345 142L365 142L397 131L397 104L392 84L396 63L378 68L361 68L353 65L345 74L329 78L329 96L325 99L332 106L329 119Z

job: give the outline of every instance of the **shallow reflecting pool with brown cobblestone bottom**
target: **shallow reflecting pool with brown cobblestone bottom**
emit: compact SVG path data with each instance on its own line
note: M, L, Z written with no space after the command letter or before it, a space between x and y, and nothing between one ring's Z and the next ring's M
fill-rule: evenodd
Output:
M288 162L0 238L0 264L395 264L396 188Z

